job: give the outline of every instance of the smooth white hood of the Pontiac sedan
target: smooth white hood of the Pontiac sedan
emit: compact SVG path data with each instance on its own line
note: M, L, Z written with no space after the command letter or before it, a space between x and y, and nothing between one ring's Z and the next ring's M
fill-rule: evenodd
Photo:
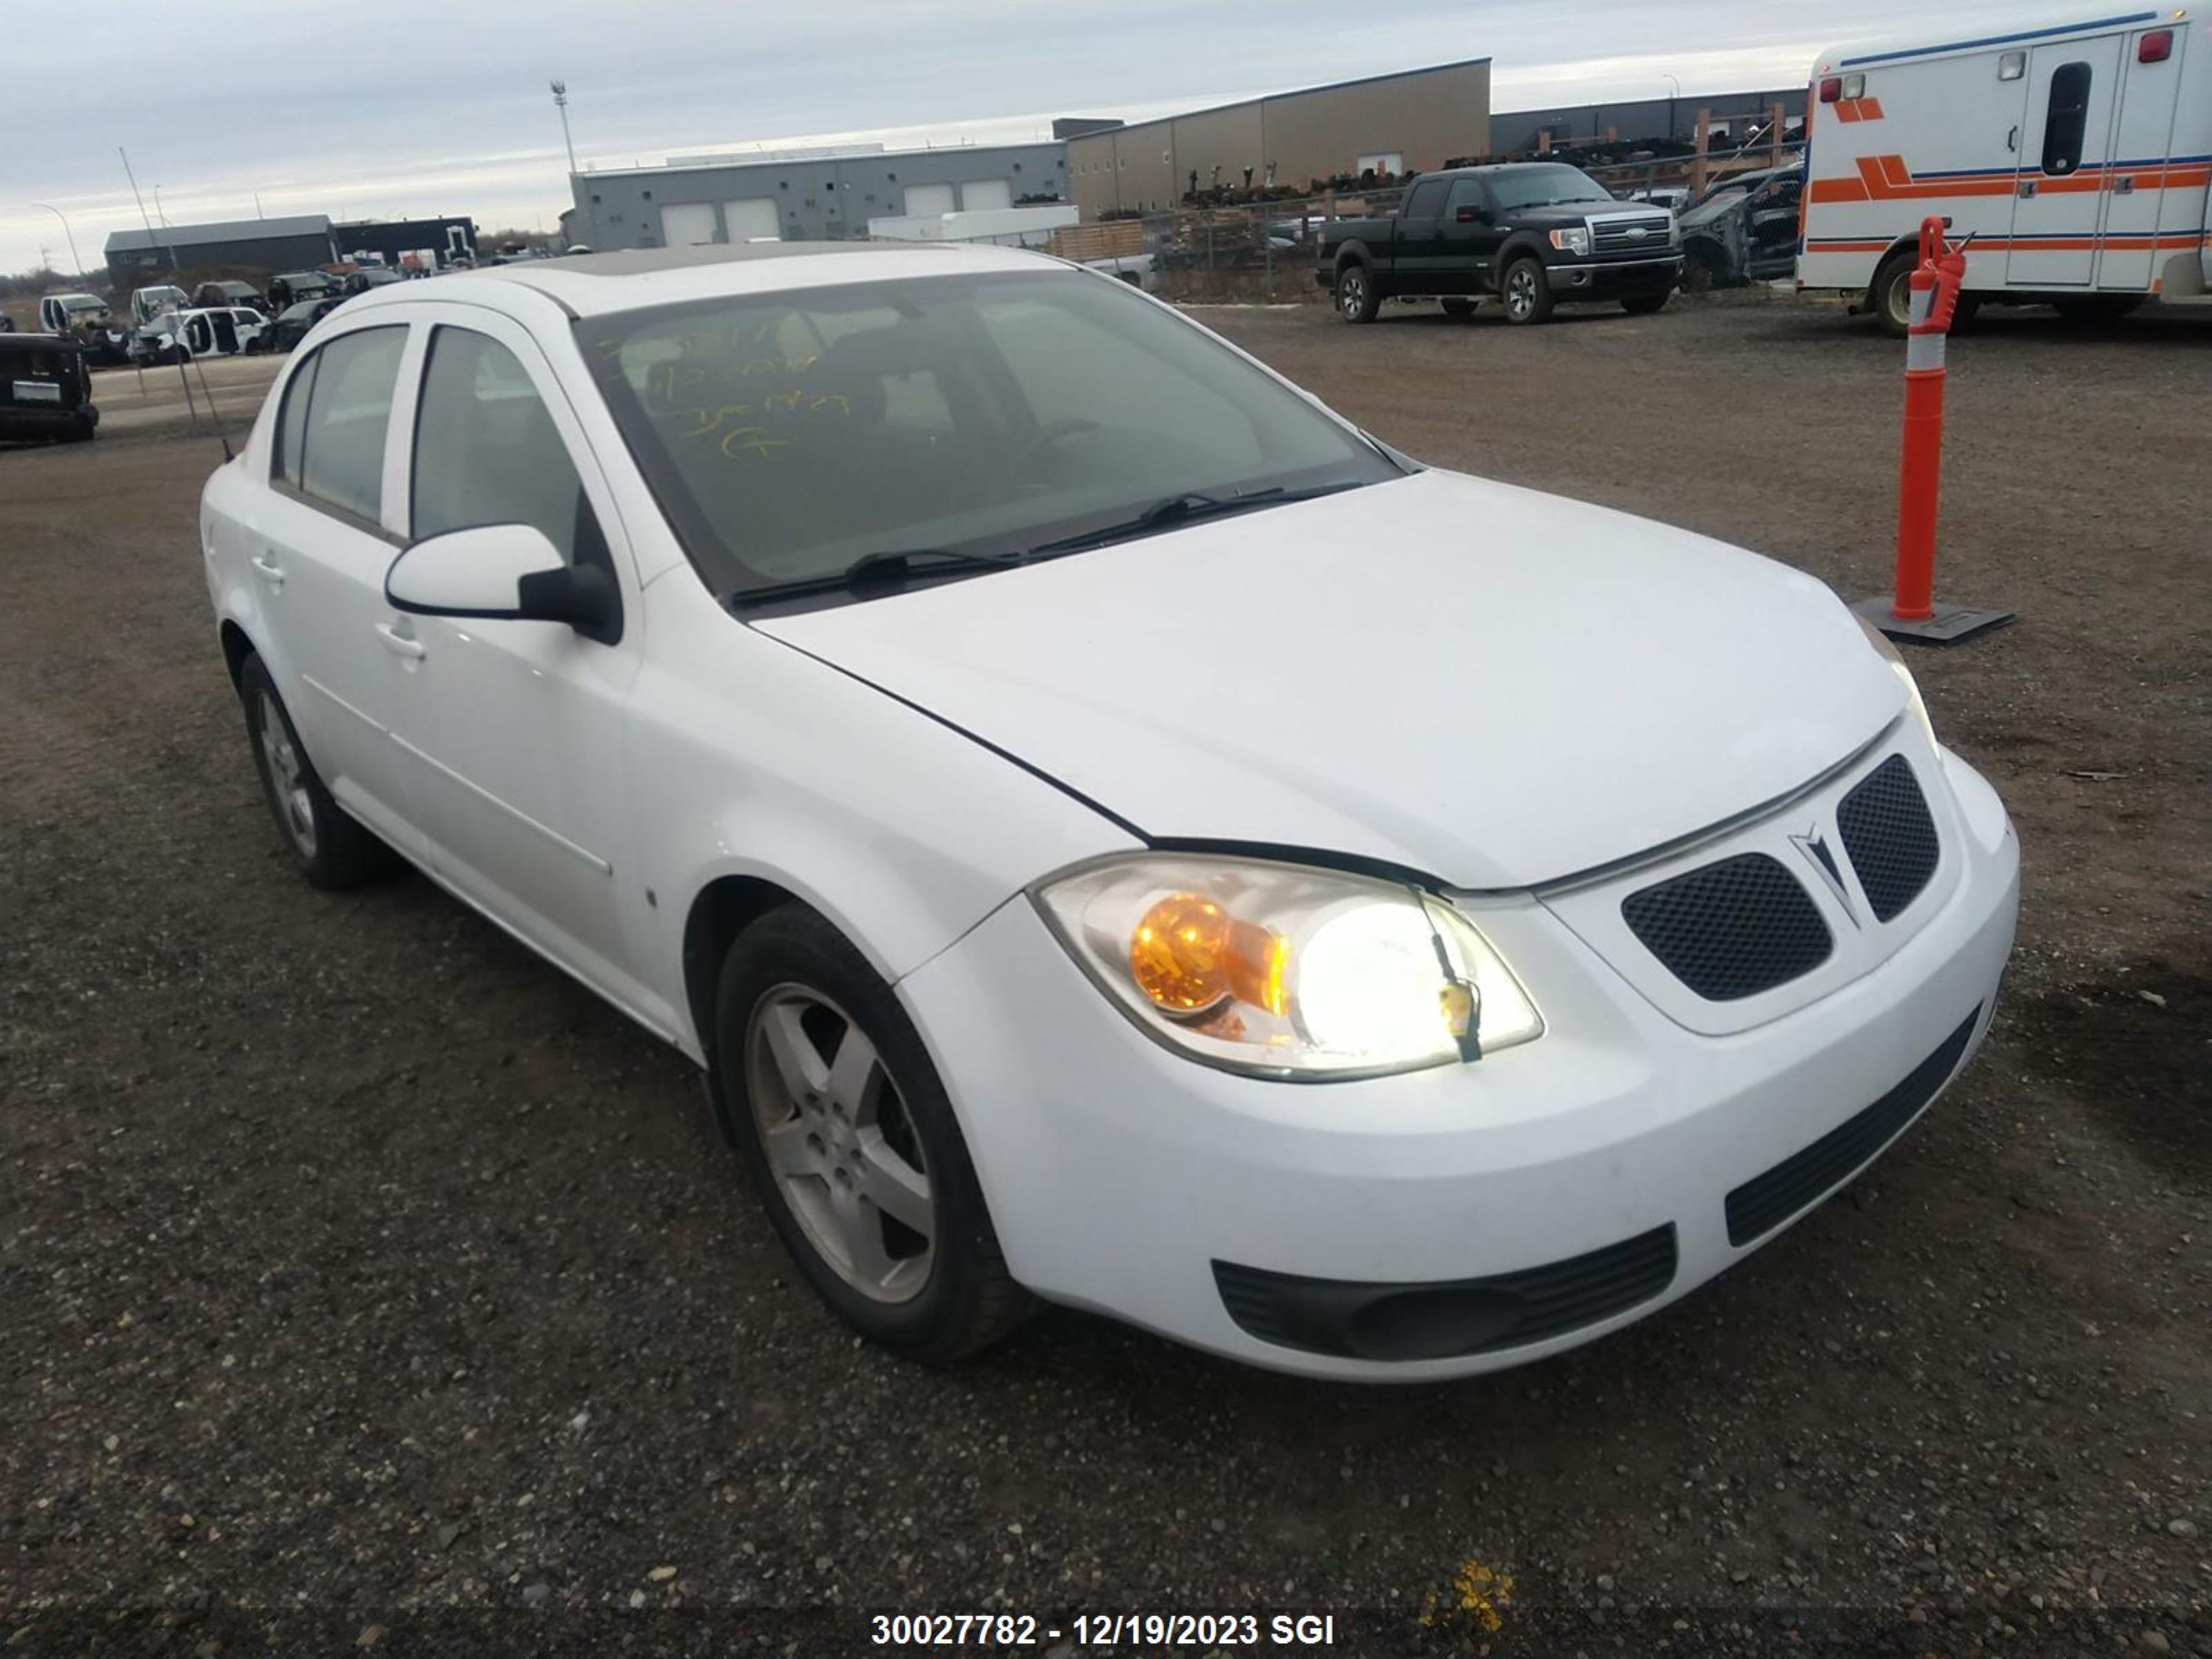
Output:
M757 626L1148 838L1478 889L1763 805L1905 706L1812 577L1442 471Z

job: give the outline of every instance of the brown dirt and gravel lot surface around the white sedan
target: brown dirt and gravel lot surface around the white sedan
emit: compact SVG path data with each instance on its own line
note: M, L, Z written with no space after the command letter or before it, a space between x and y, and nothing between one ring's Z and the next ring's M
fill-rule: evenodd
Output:
M1827 307L1201 316L1425 460L1887 582L1902 349ZM2212 1655L2212 325L1951 361L1940 591L2022 622L1913 666L2024 843L1993 1040L1701 1294L1383 1391L1064 1312L949 1376L858 1347L679 1057L420 878L290 874L212 440L0 453L0 1650L1281 1606L1376 1652Z

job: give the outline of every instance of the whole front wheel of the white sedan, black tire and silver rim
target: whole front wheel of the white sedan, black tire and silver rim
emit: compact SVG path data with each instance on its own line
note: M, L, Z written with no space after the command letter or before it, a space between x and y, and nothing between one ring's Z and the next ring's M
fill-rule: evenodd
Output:
M717 1077L739 1157L814 1292L874 1343L953 1365L1031 1312L914 1022L814 911L730 947Z

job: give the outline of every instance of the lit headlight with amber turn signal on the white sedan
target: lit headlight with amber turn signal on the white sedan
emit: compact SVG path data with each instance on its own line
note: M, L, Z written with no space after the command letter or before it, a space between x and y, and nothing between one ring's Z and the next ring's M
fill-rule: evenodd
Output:
M1542 1035L1520 980L1413 887L1157 854L1053 878L1037 909L1157 1042L1267 1077L1371 1077Z

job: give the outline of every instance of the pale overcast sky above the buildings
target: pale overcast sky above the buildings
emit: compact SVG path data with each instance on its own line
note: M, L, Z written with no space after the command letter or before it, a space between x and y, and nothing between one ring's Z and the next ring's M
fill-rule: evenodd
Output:
M467 212L568 204L546 82L586 168L752 142L1015 139L1055 115L1155 115L1493 60L1500 111L1792 86L1867 38L2022 27L2011 0L119 0L0 4L0 270L102 263L137 206ZM51 15L49 15L51 13ZM64 18L33 27L33 18Z

